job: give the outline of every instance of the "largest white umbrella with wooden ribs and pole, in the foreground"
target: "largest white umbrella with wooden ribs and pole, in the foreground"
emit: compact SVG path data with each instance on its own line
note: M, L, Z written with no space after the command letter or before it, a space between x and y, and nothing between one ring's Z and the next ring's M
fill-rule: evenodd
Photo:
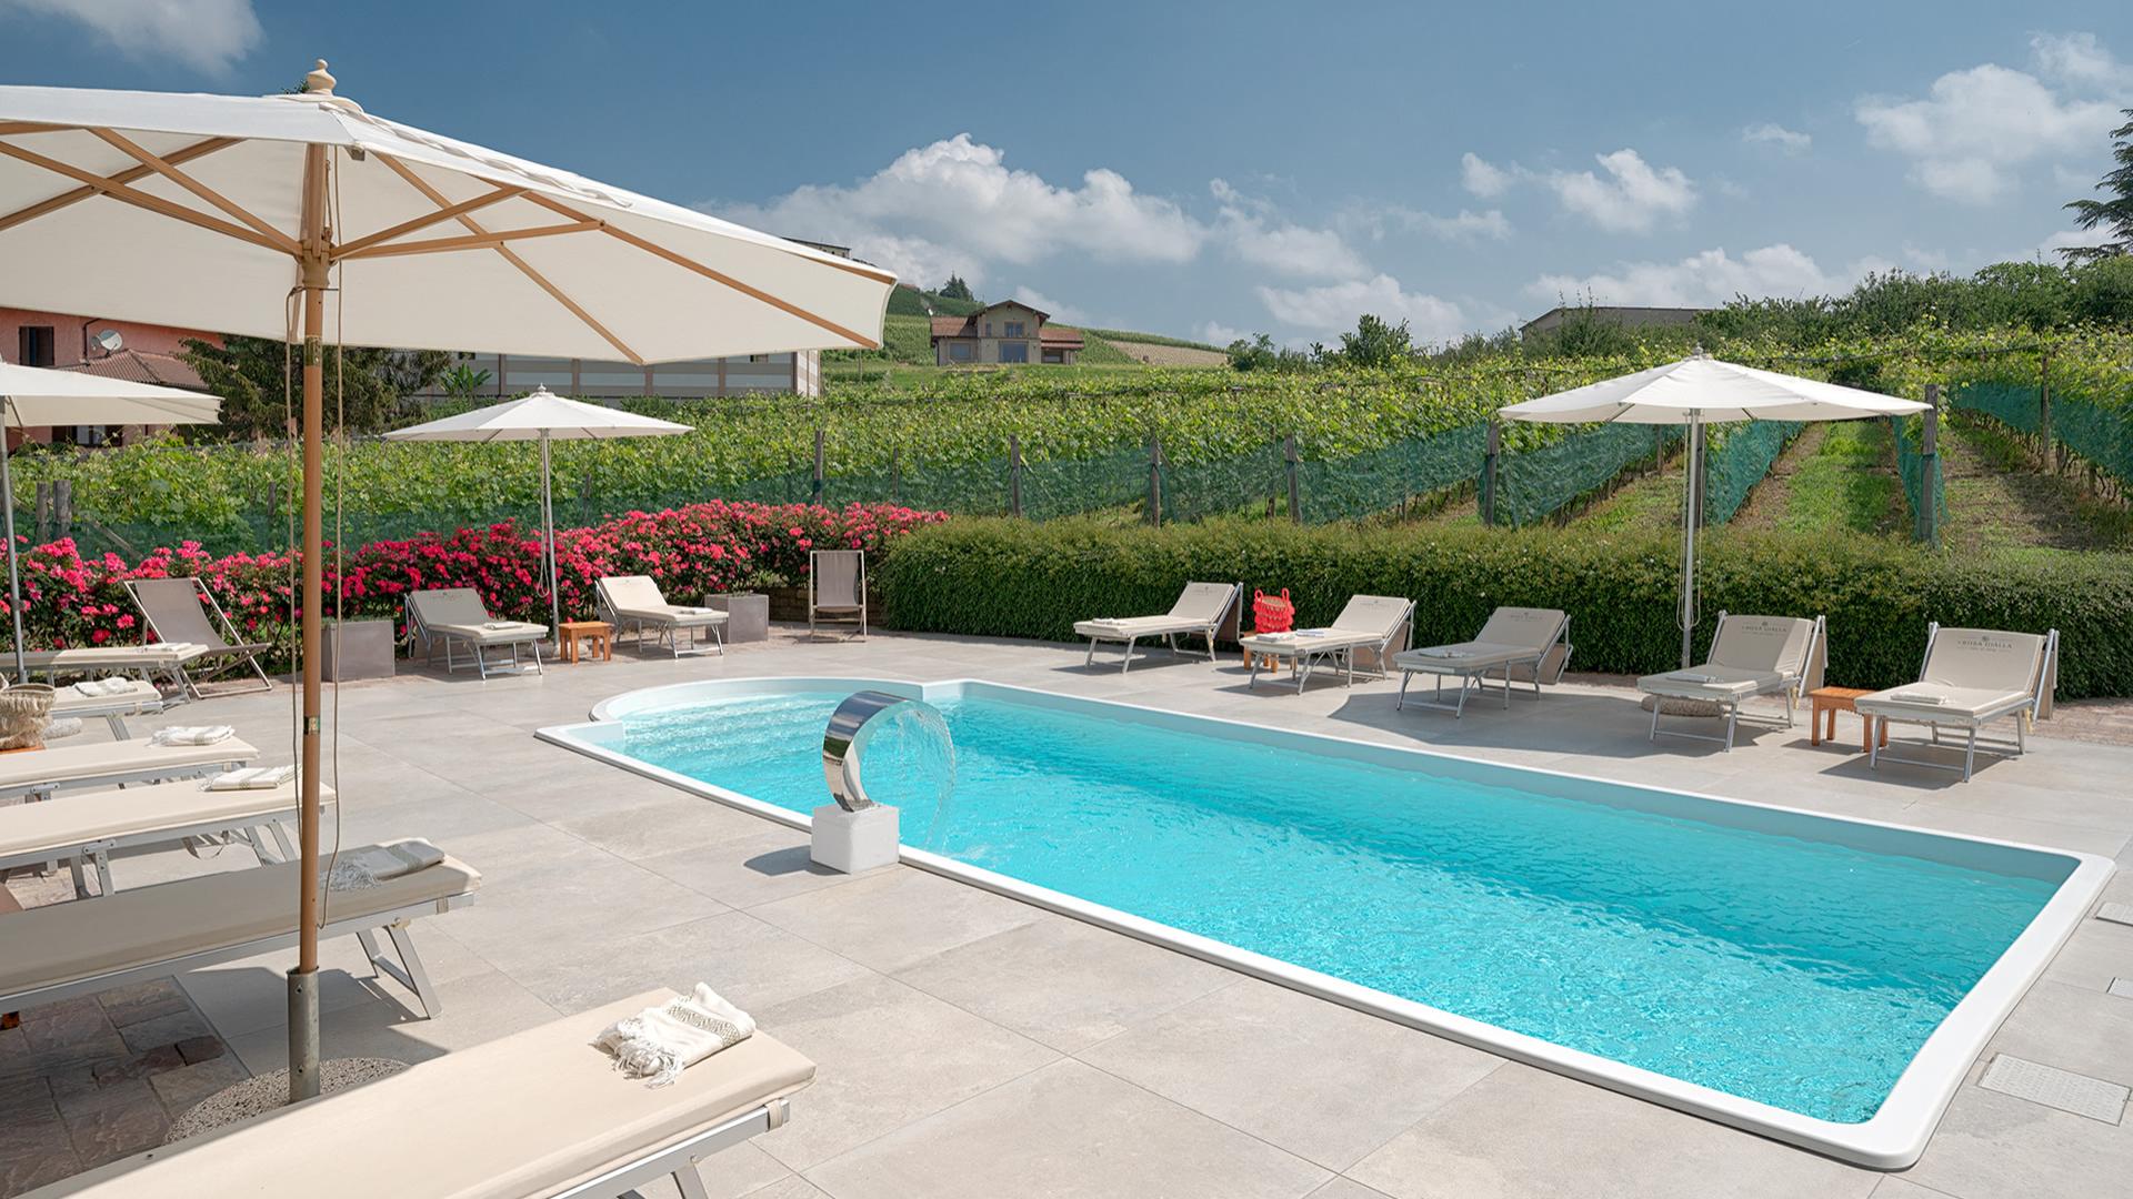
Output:
M301 934L318 1090L324 341L657 363L881 341L896 277L693 209L292 96L0 87L0 305L303 337ZM328 318L331 303L331 318Z

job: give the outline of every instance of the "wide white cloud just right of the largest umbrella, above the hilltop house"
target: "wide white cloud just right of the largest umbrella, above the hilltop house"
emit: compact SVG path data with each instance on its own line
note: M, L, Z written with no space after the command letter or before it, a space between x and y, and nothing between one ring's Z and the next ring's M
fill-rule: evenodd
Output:
M1056 254L1188 262L1207 239L1207 228L1177 203L1135 192L1118 171L1094 169L1079 188L1062 188L1011 171L1005 158L964 132L907 149L849 188L804 186L721 215L840 241L919 282L949 271L979 282L994 262L1020 267Z

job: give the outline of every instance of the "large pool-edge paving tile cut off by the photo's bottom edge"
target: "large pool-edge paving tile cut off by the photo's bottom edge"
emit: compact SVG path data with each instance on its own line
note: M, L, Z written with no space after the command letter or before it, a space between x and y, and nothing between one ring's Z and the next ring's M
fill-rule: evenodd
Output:
M1845 1199L1881 1178L1519 1062L1346 1173L1393 1199Z

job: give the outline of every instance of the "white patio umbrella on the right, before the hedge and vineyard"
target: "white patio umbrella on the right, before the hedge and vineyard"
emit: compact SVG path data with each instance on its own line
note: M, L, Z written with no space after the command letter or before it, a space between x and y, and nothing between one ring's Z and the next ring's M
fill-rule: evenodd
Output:
M1527 399L1499 407L1497 414L1551 425L1687 427L1687 497L1681 506L1681 666L1689 666L1689 636L1696 629L1696 525L1702 521L1702 495L1696 491L1702 427L1730 420L1860 420L1909 416L1926 407L1915 399L1736 367L1698 350L1679 363Z

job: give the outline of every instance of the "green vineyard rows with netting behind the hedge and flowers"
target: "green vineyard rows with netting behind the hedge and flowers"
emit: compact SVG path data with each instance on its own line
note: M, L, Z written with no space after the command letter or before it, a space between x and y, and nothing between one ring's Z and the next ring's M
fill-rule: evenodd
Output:
M570 523L729 497L1030 518L1487 514L1495 525L1664 527L1679 521L1677 429L1508 422L1491 457L1489 418L1504 403L1668 356L1504 354L1378 373L936 373L917 386L840 382L821 399L665 405L661 414L695 431L557 444L557 508ZM1928 326L1811 356L1753 343L1721 356L1894 395L1939 384L1943 420L1930 457L1918 418L1715 427L1704 478L1711 523L1945 533L1950 544L2022 544L2024 529L2058 529L2028 544L2124 546L2133 337L2046 341ZM331 467L328 501L346 542L531 518L540 493L538 457L525 446L360 442L333 448ZM32 452L17 461L15 506L26 531L49 529L55 503L38 503L38 493L53 497L66 480L68 531L85 548L141 553L198 540L218 553L258 550L286 542L292 478L277 446ZM1930 523L1920 516L1928 493Z

